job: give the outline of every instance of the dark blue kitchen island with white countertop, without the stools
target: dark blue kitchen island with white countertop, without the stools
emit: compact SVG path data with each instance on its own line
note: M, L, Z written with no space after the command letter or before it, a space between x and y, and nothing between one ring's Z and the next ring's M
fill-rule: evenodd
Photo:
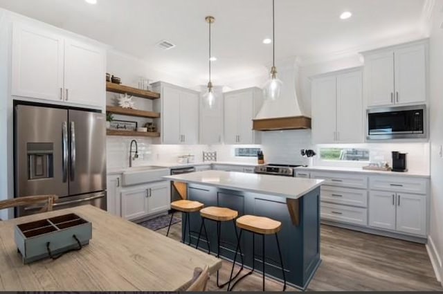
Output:
M241 172L208 170L177 176L165 176L174 183L186 183L189 200L207 206L237 210L239 216L253 214L282 223L278 233L287 282L305 289L320 264L320 185L323 180L292 178ZM201 217L190 215L191 237L186 242L197 244ZM199 248L217 252L217 227L206 221L208 241L201 236ZM183 232L184 228L182 228ZM242 253L246 267L252 267L252 234L242 236ZM265 238L266 274L282 279L275 238ZM220 255L233 260L237 239L231 222L221 225ZM262 240L255 238L255 268L262 270ZM237 257L237 261L238 261Z

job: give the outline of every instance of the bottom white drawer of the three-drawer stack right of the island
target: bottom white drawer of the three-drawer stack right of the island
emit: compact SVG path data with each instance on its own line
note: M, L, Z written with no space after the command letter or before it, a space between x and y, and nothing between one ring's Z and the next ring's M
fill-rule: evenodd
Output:
M321 203L320 217L331 221L341 221L360 226L368 226L368 211L366 208Z

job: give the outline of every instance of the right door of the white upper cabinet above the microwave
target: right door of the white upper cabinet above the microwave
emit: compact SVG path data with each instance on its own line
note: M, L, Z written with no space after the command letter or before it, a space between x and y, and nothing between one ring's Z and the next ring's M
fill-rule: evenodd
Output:
M395 51L395 103L426 102L425 46Z

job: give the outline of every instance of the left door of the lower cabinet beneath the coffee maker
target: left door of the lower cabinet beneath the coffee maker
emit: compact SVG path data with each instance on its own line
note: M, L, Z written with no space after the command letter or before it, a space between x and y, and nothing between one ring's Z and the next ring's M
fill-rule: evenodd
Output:
M395 193L369 193L369 226L395 230Z

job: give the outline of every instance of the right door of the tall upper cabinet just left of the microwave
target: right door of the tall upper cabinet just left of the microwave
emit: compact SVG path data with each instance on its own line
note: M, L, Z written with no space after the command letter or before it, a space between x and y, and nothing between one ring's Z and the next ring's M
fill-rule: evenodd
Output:
M340 143L363 142L363 81L361 71L337 77L337 134Z

